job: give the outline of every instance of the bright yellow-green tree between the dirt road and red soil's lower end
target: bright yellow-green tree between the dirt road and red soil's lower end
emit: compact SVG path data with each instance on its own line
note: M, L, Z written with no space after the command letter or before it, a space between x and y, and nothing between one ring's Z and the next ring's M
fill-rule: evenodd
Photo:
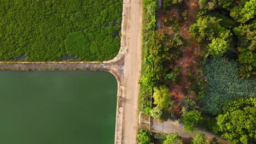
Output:
M154 87L154 104L159 106L160 109L164 110L170 104L171 95L169 89L165 85L161 85L159 88Z

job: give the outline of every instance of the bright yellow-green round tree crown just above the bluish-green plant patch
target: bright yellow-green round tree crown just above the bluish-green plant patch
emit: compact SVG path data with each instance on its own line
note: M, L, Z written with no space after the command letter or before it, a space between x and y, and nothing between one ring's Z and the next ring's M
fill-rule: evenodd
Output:
M208 52L212 56L222 56L226 49L229 47L229 44L226 43L222 38L213 38L212 43L209 44L210 49Z

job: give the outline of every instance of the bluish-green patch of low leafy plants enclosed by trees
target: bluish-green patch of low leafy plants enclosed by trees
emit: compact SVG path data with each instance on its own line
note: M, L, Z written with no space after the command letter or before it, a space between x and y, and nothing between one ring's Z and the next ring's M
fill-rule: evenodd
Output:
M207 77L207 91L203 107L207 112L218 115L222 106L235 97L256 97L256 80L240 79L237 64L225 58L213 58L204 70Z

